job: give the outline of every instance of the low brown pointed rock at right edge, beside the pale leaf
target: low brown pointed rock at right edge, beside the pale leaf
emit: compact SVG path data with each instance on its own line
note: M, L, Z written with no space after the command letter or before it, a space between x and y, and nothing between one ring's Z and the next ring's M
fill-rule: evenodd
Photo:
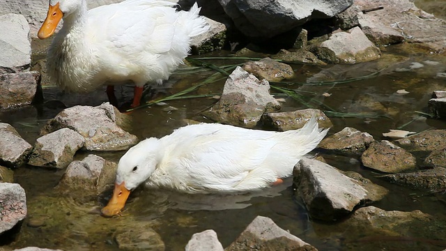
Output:
M417 135L397 139L394 143L407 151L431 152L446 148L445 137L446 130L427 130Z

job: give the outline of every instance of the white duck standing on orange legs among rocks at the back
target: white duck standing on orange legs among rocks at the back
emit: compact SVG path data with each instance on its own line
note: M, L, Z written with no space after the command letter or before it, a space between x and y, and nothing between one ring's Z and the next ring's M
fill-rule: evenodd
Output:
M49 0L38 38L51 36L63 18L47 54L51 81L73 92L107 85L115 105L114 85L132 81L137 107L144 84L167 79L190 51L190 39L208 29L197 3L188 12L175 5L126 0L87 11L86 0Z

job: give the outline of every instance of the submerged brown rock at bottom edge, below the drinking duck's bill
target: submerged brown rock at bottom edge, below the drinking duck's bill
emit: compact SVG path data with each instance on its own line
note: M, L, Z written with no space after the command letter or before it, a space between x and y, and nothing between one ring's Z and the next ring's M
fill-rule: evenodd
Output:
M161 236L151 227L121 231L115 234L115 240L120 250L165 250Z

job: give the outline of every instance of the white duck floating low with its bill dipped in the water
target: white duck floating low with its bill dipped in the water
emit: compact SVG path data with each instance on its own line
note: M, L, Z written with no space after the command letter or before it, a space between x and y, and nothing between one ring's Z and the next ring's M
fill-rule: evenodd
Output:
M141 183L188 193L242 192L282 183L327 132L313 117L303 128L286 132L201 123L145 139L119 160L113 196L102 214L119 213Z

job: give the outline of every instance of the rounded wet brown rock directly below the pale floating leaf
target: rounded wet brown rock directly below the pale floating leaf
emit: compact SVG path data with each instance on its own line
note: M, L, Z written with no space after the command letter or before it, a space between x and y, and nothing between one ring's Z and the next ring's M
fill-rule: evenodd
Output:
M415 156L387 140L371 142L361 155L362 165L386 173L398 173L417 166Z

